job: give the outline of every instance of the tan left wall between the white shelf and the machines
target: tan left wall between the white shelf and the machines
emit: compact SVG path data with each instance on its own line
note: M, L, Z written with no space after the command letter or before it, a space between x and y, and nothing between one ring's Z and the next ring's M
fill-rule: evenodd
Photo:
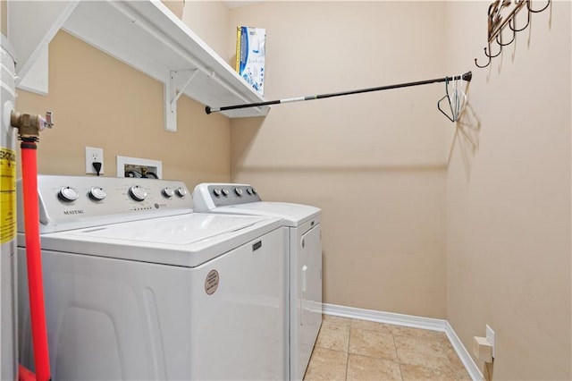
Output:
M189 187L230 179L230 121L206 115L181 97L178 131L164 131L163 84L60 31L49 47L49 96L18 90L21 112L55 113L55 128L40 136L38 171L84 174L85 147L104 148L105 176L115 157L163 161L166 179Z

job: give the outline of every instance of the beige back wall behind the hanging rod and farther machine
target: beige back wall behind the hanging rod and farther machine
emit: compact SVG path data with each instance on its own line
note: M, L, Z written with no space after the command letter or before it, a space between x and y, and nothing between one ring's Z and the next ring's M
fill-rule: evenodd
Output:
M265 97L443 77L443 3L267 2ZM229 44L234 44L229 38ZM458 70L467 70L467 65ZM324 212L324 301L445 318L444 85L273 106L231 122L231 177Z

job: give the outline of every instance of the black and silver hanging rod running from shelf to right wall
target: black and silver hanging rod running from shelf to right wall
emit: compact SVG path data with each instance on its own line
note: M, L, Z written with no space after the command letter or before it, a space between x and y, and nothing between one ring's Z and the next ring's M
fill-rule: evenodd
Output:
M206 114L211 114L211 113L216 113L219 111L235 110L237 108L278 105L281 103L291 103L291 102L300 102L300 101L304 101L304 100L324 99L325 97L341 97L341 96L347 96L347 95L353 95L353 94L368 93L368 92L372 92L372 91L408 88L411 86L428 85L431 83L438 83L438 82L449 82L451 80L467 80L467 82L468 82L471 80L471 78L473 78L473 73L472 72L466 72L465 74L458 75L455 77L436 78L434 80L418 80L416 82L407 82L407 83L400 83L397 85L380 86L377 88L341 91L338 93L318 94L318 95L311 95L311 96L306 96L306 97L289 97L289 98L285 98L285 99L268 100L265 102L248 103L248 104L244 104L244 105L235 105L235 106L223 106L223 107L206 106L205 111L206 111Z

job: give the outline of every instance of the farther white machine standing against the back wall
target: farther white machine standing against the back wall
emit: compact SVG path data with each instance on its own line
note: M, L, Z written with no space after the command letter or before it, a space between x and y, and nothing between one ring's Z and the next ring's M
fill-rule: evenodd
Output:
M285 343L287 378L302 379L322 324L322 212L317 207L267 202L248 184L202 183L193 191L196 212L279 216L285 236L286 291L290 293Z

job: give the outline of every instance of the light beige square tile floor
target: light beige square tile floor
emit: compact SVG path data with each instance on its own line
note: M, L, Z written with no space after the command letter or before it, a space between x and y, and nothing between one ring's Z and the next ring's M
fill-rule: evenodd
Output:
M470 380L442 332L324 315L307 366L314 380Z

